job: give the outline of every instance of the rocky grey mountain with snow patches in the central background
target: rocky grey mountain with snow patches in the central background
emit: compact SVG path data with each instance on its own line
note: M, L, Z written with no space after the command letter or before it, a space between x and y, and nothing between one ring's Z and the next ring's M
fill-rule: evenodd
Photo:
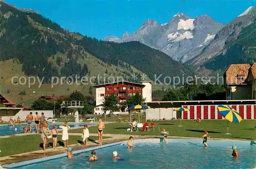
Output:
M208 15L192 18L177 13L168 23L147 19L136 32L126 32L115 42L139 41L163 51L176 61L185 62L199 55L224 26Z

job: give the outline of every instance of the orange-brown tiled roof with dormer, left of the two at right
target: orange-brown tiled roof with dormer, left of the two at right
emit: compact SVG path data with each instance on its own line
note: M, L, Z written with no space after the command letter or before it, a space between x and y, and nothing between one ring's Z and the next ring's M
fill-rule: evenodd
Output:
M248 70L250 67L251 67L250 64L231 64L225 72L227 83L228 84L243 83L248 75ZM240 80L238 76L243 77L243 80Z

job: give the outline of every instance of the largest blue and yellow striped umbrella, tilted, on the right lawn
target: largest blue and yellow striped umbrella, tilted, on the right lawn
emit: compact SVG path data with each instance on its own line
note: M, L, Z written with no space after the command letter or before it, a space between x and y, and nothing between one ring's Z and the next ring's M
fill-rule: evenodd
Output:
M219 114L223 116L226 120L233 122L233 123L239 123L241 122L242 118L239 115L239 112L232 107L229 107L228 105L222 105L220 104L218 106Z

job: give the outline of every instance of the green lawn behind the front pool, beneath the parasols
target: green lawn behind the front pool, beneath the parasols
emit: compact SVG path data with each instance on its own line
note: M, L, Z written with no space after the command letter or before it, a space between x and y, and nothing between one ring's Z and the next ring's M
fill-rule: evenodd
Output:
M179 127L180 121L157 121L155 126L160 127L169 131L170 136L186 136L186 137L202 137L204 130L207 130L212 138L232 138L232 139L256 139L256 131L254 129L254 123L256 120L242 120L239 124L228 123L229 133L231 135L226 135L227 132L227 121L226 120L202 120L201 123L196 123L192 120L183 120L182 126ZM127 132L126 129L129 128L127 123L114 123L105 124L104 133L111 134L140 134L140 135L159 135L158 128L153 131L134 131ZM89 128L90 133L97 133L96 126ZM81 129L71 129L70 133L81 132Z

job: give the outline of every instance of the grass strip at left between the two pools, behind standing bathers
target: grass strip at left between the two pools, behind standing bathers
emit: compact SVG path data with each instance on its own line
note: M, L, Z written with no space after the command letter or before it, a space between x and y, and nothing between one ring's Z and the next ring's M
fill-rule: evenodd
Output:
M57 141L58 143L56 146L60 147L63 145L61 140L61 135L58 135L57 138L58 138L58 141ZM103 137L103 139L104 138L109 138L109 137ZM97 136L90 136L88 140L89 142L94 142L97 139L98 139ZM53 143L52 139L47 139L47 143L49 143L47 148L52 148L52 143ZM77 144L77 143L82 143L81 136L70 135L69 145ZM0 138L0 150L1 150L0 157L26 153L26 152L36 151L36 150L42 150L41 147L42 147L41 134Z

